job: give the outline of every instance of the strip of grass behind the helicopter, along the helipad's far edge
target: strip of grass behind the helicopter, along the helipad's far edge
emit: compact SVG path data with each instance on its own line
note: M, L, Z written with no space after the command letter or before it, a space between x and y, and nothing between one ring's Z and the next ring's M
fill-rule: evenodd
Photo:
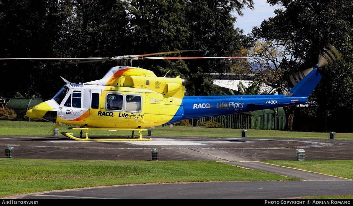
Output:
M25 122L0 120L0 135L53 135L50 131L55 124L50 122ZM79 135L78 130L68 130L68 126L59 126L61 131ZM152 128L152 136L196 136L196 137L241 137L243 129L204 128L192 126L157 126ZM61 134L60 134L61 135ZM89 131L89 135L130 136L131 131ZM147 136L147 131L143 131ZM297 132L281 130L247 129L247 137L253 138L301 138L301 139L328 139L329 133ZM335 139L353 140L352 133L336 133Z

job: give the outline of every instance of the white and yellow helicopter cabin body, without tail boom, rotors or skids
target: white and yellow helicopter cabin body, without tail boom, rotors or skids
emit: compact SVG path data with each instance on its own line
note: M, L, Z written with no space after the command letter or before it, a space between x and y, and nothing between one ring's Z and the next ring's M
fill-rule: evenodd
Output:
M95 128L147 128L183 118L184 82L134 67L113 67L102 80L68 83L29 117Z

